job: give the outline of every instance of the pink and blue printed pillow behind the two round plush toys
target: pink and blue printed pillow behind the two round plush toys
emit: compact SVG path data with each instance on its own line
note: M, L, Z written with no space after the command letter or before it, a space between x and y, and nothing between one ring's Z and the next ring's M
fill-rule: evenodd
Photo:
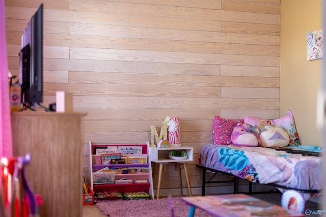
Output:
M290 137L290 141L288 146L299 146L299 136L296 132L295 123L294 123L294 117L290 110L287 110L286 116L273 119L273 120L266 120L259 117L251 117L251 116L245 116L243 117L243 120L245 123L248 123L249 125L252 125L254 127L258 127L261 121L270 122L271 125L277 125L283 128Z

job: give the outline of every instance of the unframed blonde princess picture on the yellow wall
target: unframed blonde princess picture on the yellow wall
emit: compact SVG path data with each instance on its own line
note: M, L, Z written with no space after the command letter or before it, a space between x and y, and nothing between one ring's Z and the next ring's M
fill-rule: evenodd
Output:
M320 59L324 57L323 29L307 33L307 60Z

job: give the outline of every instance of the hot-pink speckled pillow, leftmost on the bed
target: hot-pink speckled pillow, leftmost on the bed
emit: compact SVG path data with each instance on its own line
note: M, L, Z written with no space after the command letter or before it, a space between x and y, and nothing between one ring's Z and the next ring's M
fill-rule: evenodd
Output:
M230 145L233 128L238 123L244 123L243 119L227 119L218 115L214 117L213 139L215 145Z

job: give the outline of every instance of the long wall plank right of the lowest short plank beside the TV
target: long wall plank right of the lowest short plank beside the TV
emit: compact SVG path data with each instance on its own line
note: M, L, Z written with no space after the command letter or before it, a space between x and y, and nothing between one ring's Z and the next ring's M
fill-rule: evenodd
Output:
M90 75L92 77L90 77ZM193 87L279 87L278 77L234 77L234 76L201 76L173 75L167 76L164 71L156 74L129 74L105 72L69 72L70 83L120 84L120 85L164 85ZM204 89L203 89L204 90ZM164 90L165 91L165 90ZM219 89L216 89L219 91ZM190 95L189 95L190 96ZM162 96L163 97L163 96Z

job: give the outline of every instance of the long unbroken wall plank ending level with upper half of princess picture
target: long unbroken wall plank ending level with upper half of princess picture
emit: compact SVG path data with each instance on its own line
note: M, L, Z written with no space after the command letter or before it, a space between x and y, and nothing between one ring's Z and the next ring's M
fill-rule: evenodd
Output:
M222 33L211 31L129 27L105 24L72 23L72 35L108 36L122 38L142 38L180 40L235 44L279 45L280 37L274 35Z

